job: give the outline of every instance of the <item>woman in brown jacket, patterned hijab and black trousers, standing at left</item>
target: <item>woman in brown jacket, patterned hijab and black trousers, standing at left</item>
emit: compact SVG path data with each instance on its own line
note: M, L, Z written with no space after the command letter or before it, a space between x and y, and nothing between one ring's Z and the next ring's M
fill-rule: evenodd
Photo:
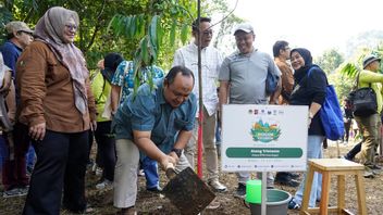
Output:
M17 62L18 122L37 154L23 214L60 214L62 191L67 211L87 208L84 178L96 108L85 59L73 43L77 29L76 12L49 9Z

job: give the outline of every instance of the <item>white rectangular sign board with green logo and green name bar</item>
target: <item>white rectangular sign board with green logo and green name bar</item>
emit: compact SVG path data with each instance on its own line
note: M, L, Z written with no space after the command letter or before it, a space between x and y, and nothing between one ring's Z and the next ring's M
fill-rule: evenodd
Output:
M308 106L226 104L222 169L306 170Z

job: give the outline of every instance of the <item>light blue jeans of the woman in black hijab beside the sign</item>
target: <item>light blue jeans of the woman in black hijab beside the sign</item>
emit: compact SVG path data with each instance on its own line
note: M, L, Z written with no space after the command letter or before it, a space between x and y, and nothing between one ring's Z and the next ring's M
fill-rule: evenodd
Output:
M308 137L308 144L307 144L307 159L322 159L322 142L324 140L323 136L316 136L310 135ZM299 185L297 192L295 193L294 201L301 205L305 184L306 184L306 174L304 174L304 179ZM310 192L310 201L309 207L316 206L316 201L321 199L321 191L322 191L322 175L314 173L312 178L312 186Z

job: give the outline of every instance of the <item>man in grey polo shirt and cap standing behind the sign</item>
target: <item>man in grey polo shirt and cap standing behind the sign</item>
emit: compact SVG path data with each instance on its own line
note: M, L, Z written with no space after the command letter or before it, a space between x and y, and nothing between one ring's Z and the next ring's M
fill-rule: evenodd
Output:
M234 30L238 51L227 56L221 66L220 80L220 105L232 104L269 104L270 98L265 93L265 79L268 72L281 76L281 72L273 59L254 48L256 38L254 28L248 23L236 26ZM246 181L250 179L250 173L239 172L236 197L246 195ZM258 174L259 177L259 174ZM268 175L268 187L273 187L273 176Z

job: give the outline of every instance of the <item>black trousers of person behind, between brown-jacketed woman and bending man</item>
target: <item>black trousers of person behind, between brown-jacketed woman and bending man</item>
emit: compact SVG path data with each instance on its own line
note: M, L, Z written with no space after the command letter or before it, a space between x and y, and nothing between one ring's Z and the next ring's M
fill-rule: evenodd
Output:
M102 177L113 181L116 154L111 124L111 121L97 123L95 138L97 142L97 163L103 167Z

